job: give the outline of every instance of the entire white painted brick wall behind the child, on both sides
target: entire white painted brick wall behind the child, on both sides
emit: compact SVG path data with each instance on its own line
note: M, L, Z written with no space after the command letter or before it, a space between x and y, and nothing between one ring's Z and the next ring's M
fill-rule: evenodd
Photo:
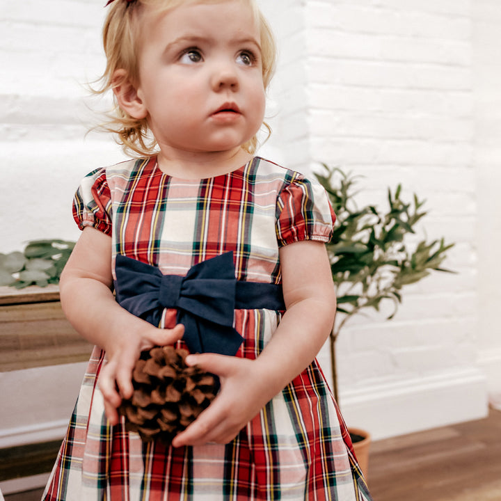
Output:
M82 175L121 159L84 138L81 86L99 74L104 0L0 0L0 251L77 238ZM374 435L479 417L501 393L501 38L498 0L260 0L280 63L262 154L365 175L362 197L404 184L427 199L447 266L404 291L392 321L354 319L338 342L342 407ZM327 365L328 354L321 360ZM424 411L423 411L424 409Z

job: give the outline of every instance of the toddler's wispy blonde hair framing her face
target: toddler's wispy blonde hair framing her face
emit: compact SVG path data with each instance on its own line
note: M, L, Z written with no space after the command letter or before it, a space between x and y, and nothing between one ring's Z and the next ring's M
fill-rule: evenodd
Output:
M219 3L225 0L115 0L111 4L103 27L103 45L106 54L106 68L97 82L100 88L94 89L96 94L104 94L120 86L116 70L125 70L123 79L129 79L132 84L139 82L138 49L141 33L140 19L145 6L155 8L159 14L166 13L182 3ZM273 77L276 63L276 44L273 33L255 0L244 0L252 8L254 17L260 26L262 51L262 77L264 88L267 89ZM156 152L157 141L152 136L146 118L136 119L122 110L113 95L113 109L107 115L109 120L100 128L116 134L116 141L123 150L133 156L149 157ZM263 123L268 136L271 128ZM242 148L253 154L257 149L257 136L242 145Z

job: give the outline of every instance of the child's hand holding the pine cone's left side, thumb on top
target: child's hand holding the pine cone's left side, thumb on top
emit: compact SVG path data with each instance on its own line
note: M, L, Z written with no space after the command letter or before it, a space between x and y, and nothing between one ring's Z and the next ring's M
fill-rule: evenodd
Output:
M154 346L174 344L183 334L182 324L172 329L160 329L145 322L141 334L127 331L115 337L115 342L109 340L105 348L106 363L101 369L98 382L104 397L104 411L110 424L118 424L117 408L122 397L132 397L132 371L141 351Z

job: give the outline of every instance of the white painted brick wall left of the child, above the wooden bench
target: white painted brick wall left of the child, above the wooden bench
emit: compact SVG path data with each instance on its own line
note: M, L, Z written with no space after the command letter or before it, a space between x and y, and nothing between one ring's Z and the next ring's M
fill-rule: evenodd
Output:
M103 56L100 0L0 0L0 221L3 252L29 239L77 239L68 201L86 172L121 158L84 138L86 82ZM68 198L70 195L70 198Z

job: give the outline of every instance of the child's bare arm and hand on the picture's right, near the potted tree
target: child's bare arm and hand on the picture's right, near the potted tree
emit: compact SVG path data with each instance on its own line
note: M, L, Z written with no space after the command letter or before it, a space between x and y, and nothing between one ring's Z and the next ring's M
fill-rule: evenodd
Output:
M287 312L256 360L212 353L186 360L218 374L221 392L173 445L228 443L317 356L333 326L335 292L324 244L300 241L280 250Z

